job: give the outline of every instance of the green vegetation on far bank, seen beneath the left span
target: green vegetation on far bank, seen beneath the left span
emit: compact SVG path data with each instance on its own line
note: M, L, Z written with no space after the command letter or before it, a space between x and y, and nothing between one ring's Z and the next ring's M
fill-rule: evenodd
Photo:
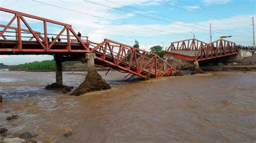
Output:
M68 62L63 62L62 67L66 66L74 66L76 63L82 63L78 61L68 61ZM83 64L84 65L84 64ZM55 61L54 60L45 60L45 61L35 61L35 62L30 62L30 63L24 63L21 65L14 65L14 66L9 66L10 70L55 70Z

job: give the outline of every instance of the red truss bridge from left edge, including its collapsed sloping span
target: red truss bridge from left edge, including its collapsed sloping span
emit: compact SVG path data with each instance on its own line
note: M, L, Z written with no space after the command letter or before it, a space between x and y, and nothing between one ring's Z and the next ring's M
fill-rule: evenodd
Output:
M79 37L72 26L54 20L32 16L0 7L0 12L12 16L6 24L0 24L0 55L49 54L61 55L71 60L95 53L95 64L112 67L141 77L171 76L181 74L158 55L105 39L101 43ZM35 29L42 23L43 32ZM50 26L49 26L50 25ZM51 25L62 30L51 34Z

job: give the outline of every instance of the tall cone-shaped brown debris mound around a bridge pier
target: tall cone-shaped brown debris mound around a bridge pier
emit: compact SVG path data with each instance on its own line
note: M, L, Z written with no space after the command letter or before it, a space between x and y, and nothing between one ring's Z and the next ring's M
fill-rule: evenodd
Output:
M84 82L71 92L71 95L79 96L87 92L106 90L110 88L109 83L103 80L102 76L98 74L96 68L89 68Z

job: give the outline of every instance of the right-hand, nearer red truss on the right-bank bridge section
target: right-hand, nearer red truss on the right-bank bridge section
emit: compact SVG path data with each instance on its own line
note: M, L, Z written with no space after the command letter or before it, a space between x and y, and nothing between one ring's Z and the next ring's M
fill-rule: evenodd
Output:
M219 39L203 46L195 53L196 61L219 58L221 56L238 54L237 45L234 42Z

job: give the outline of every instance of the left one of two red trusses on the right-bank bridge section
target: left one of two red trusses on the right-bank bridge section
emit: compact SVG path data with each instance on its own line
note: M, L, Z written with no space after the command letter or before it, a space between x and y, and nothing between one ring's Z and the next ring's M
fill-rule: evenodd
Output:
M172 42L167 51L199 51L206 42L197 39L187 39L182 41Z

